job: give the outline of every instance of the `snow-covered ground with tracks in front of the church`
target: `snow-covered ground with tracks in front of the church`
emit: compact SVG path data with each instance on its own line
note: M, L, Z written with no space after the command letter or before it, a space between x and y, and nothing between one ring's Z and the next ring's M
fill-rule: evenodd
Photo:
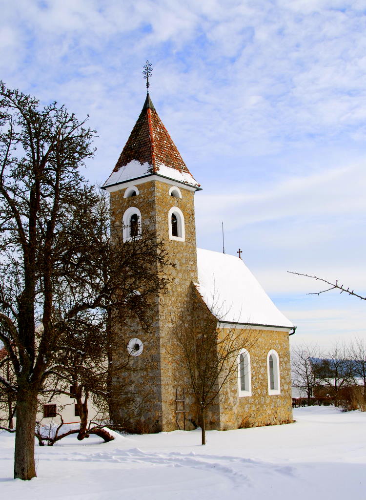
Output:
M294 410L295 423L207 432L69 436L36 446L38 477L12 479L13 434L0 434L0 497L82 500L366 498L366 413Z

